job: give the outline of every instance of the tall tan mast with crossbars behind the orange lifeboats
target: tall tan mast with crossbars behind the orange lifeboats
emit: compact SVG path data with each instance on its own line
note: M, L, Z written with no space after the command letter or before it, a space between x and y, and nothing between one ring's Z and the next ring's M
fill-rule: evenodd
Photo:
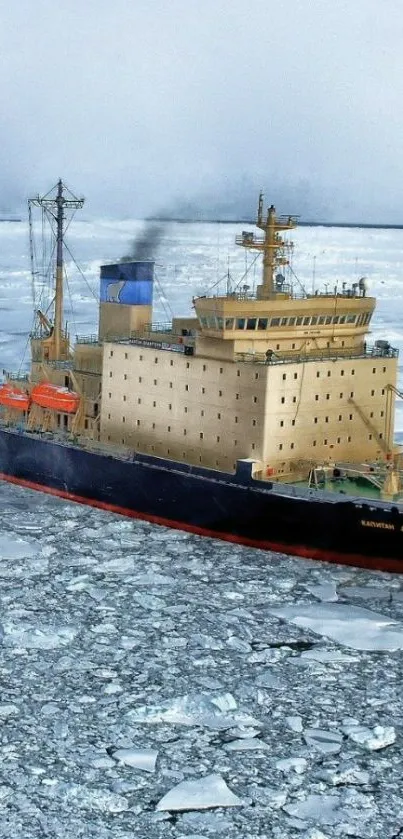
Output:
M33 361L64 361L69 358L69 336L67 330L63 329L65 221L68 212L81 209L83 204L84 199L70 192L61 179L43 197L38 195L28 200L29 211L32 207L39 207L55 230L56 237L53 323L43 312L37 311L41 328L40 335L34 333L32 336Z

